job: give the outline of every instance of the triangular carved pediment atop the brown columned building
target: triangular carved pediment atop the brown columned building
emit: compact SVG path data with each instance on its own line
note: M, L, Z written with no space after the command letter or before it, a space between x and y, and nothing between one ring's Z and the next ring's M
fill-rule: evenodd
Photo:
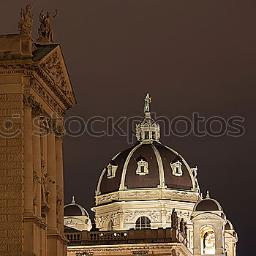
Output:
M42 75L47 77L51 84L52 91L61 101L65 101L67 109L76 104L75 94L69 79L67 67L60 45L50 49L50 51L39 59L39 68Z

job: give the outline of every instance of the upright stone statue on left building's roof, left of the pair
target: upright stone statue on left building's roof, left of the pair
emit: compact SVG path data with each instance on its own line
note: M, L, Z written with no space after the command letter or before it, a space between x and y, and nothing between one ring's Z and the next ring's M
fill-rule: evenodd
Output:
M30 11L32 8L33 7L31 5L27 5L25 10L21 9L18 29L20 31L20 34L22 35L27 35L27 36L31 35L33 18L31 16Z

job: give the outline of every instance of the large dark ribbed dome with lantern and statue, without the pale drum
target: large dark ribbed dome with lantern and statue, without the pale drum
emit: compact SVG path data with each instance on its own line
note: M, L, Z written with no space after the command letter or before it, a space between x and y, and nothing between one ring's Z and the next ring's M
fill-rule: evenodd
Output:
M145 102L145 118L136 126L137 143L118 153L105 165L99 177L97 195L124 189L199 192L197 168L190 168L178 152L160 143L160 127L151 118L149 95Z

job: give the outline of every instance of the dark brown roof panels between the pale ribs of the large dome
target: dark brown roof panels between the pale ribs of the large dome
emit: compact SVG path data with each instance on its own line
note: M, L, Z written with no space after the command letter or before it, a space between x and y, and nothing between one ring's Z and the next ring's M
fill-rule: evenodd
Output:
M118 154L116 159L110 161L111 165L117 165L116 176L114 178L107 177L107 171L105 171L102 176L102 181L100 183L99 191L102 194L109 192L118 191L119 185L121 184L121 176L124 169L124 163L127 160L129 153L133 148L138 146L132 146L127 150ZM159 155L162 159L162 165L164 169L165 185L167 188L172 189L185 189L190 190L193 187L192 178L189 174L189 170L185 165L184 159L182 159L178 154L163 146L161 143L149 143L140 144L138 148L130 156L127 165L127 171L124 178L124 186L127 189L143 189L143 188L157 188L160 185L160 172L159 163L157 161L157 155L154 151L154 147L157 148ZM138 167L138 159L145 159L148 162L148 174L138 175L136 174L136 169ZM173 171L170 167L172 162L181 162L182 176L173 175ZM106 165L108 166L108 164Z

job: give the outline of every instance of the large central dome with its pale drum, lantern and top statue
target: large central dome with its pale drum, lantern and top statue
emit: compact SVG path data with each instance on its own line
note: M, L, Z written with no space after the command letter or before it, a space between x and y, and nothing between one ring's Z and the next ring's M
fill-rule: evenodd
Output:
M160 127L144 99L144 117L136 126L137 142L103 167L95 195L95 225L102 230L166 228L173 208L189 223L200 199L196 170L181 154L160 142Z

